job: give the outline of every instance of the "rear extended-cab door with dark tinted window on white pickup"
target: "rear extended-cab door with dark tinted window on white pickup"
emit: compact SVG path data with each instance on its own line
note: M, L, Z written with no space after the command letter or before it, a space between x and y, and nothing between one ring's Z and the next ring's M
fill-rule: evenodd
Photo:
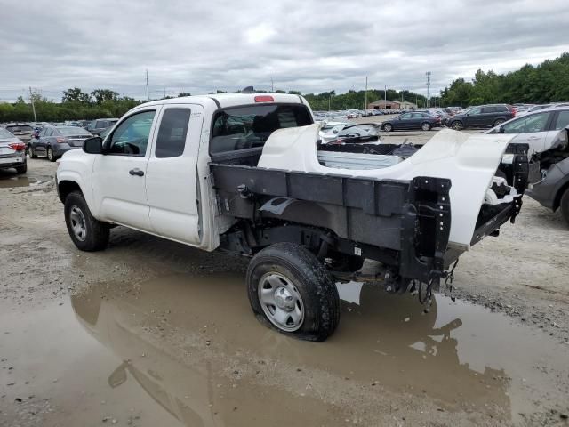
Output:
M150 222L155 232L190 245L201 240L197 155L204 108L164 105L146 181Z

